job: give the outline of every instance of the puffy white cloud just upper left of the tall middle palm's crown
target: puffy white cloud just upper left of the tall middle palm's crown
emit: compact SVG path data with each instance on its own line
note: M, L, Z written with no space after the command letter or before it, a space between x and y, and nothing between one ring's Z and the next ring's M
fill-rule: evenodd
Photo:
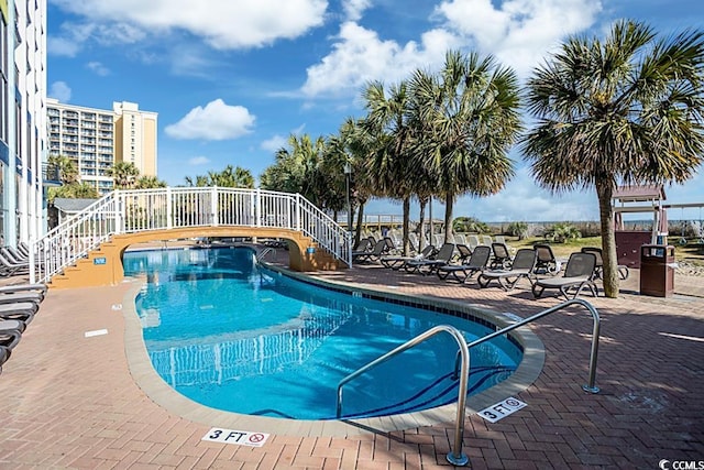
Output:
M375 31L345 22L333 51L308 67L301 91L308 97L346 95L359 92L370 80L398 81L418 67L439 65L446 51L458 44L452 34L431 30L422 34L420 44L410 41L402 46L381 40Z

